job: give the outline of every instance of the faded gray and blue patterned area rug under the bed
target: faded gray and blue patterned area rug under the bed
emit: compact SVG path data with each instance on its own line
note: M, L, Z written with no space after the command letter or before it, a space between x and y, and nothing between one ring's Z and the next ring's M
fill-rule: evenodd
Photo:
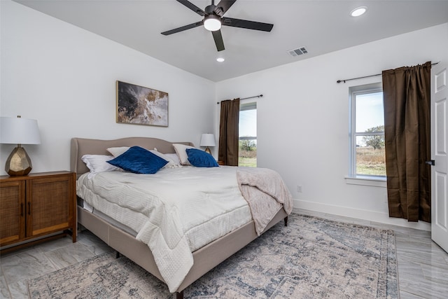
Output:
M31 298L174 298L105 253L28 281ZM398 298L395 235L292 214L184 291L185 298Z

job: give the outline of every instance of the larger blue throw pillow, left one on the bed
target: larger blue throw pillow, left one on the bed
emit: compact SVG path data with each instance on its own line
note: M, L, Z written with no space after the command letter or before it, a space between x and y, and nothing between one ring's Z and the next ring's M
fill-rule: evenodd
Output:
M132 146L125 153L107 162L134 174L155 174L168 161L140 146Z

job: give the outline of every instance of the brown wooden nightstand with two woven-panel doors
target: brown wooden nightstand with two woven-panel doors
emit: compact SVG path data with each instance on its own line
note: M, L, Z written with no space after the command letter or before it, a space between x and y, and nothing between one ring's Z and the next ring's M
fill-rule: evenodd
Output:
M0 247L17 244L1 253L65 235L76 242L74 172L0 176Z

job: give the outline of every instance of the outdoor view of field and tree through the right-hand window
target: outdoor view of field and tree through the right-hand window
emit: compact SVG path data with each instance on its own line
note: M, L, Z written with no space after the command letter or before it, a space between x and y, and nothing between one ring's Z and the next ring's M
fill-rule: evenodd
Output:
M355 93L356 174L386 176L383 92Z

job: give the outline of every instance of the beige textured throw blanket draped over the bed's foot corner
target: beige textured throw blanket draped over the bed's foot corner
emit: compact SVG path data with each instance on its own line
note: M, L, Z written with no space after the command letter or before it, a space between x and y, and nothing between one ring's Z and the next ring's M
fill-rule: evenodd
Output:
M265 230L281 207L288 215L293 211L293 198L280 174L274 170L239 167L237 181L239 190L251 208L257 235Z

